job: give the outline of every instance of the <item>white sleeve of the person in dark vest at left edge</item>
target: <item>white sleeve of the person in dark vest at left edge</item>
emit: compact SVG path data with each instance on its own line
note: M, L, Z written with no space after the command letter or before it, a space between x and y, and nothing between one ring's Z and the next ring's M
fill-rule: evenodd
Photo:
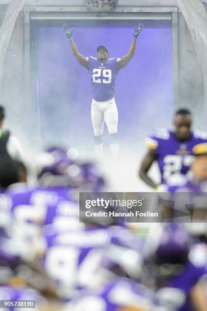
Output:
M7 152L13 160L23 162L25 164L26 157L20 141L14 135L10 135L7 142Z

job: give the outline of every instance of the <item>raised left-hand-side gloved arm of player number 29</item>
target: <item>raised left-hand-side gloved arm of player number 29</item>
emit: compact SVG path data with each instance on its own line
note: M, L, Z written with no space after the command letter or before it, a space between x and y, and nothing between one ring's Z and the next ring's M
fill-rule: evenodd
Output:
M73 42L73 30L74 30L74 28L70 28L68 26L68 24L63 24L62 29L63 29L63 32L65 33L66 37L69 40L69 45L70 45L71 51L72 51L73 55L75 56L75 58L77 59L78 63L81 66L88 69L88 63L87 63L86 58L82 54L80 54L77 46Z

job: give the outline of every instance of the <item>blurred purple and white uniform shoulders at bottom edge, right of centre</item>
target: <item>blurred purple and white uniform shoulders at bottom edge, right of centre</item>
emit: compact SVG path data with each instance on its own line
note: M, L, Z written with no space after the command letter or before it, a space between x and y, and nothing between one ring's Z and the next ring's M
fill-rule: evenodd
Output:
M116 278L96 292L87 292L75 298L64 310L117 311L126 306L149 310L153 307L150 295L144 286L126 278Z

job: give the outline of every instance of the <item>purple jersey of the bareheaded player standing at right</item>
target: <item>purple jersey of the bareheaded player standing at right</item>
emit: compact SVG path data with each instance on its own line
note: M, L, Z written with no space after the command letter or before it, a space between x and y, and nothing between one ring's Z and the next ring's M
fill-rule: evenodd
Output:
M192 149L195 145L206 142L207 133L191 132L186 141L179 141L172 131L158 129L146 139L146 144L157 153L162 183L172 174L187 174L193 161Z

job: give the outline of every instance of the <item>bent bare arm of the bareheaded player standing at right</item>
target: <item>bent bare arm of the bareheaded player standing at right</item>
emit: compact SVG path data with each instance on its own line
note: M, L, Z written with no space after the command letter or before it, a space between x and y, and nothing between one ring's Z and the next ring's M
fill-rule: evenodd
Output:
M149 149L141 163L141 167L139 170L139 177L152 188L156 188L157 184L147 175L147 173L156 159L156 151L153 149Z

